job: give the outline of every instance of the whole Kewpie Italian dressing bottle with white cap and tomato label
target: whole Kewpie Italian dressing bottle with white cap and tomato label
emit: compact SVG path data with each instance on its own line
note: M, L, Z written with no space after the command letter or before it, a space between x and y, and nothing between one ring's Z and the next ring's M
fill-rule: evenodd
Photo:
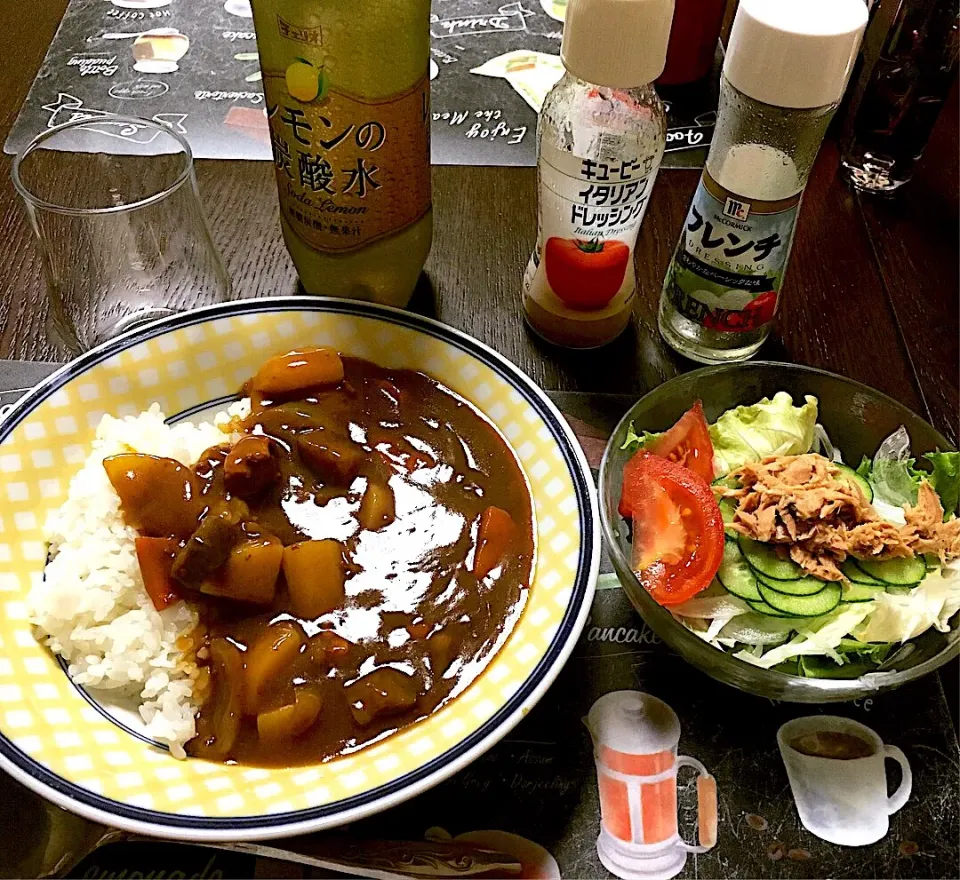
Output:
M540 336L571 348L615 339L636 295L633 248L666 144L653 87L673 0L569 0L565 73L537 126L537 247L523 310Z

